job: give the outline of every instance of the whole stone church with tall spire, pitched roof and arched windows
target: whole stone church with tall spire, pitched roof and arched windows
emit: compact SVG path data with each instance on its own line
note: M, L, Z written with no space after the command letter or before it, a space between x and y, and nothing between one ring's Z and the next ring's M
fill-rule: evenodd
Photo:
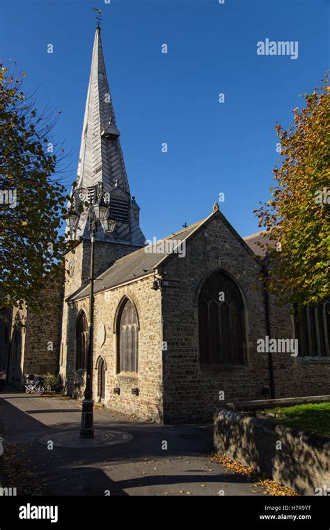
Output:
M111 234L100 225L95 241L95 402L148 421L194 423L211 421L223 403L330 394L329 308L322 304L294 316L265 293L260 233L242 239L216 203L194 225L146 245L120 147L100 27L75 193L76 206L107 195L116 220ZM50 370L61 374L68 394L82 397L90 264L84 206L65 255L63 285L49 293L49 313L25 314L19 343L15 319L22 311L13 311L6 330L1 324L0 368L8 367L8 381ZM274 339L280 347L272 352ZM295 339L298 348L292 349Z

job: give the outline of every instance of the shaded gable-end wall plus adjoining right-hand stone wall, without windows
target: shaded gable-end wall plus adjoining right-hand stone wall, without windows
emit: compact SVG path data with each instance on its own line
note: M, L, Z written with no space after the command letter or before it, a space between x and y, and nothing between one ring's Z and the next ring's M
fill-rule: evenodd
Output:
M179 288L163 292L164 340L164 421L211 421L214 409L224 401L258 400L269 390L266 353L257 351L257 340L265 338L265 301L258 284L260 266L251 257L226 222L213 218L187 241L186 257L175 256L164 264L166 280L178 280ZM199 363L197 294L207 273L222 268L242 289L246 317L246 365L221 369ZM173 283L175 285L175 283ZM290 308L276 305L270 297L271 336L294 338ZM273 354L276 398L322 395L330 391L330 359L301 358L288 353ZM268 394L269 397L269 394Z

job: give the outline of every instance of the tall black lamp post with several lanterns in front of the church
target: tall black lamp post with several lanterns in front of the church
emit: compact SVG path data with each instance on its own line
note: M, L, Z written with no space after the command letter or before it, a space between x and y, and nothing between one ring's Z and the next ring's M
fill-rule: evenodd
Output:
M115 229L116 221L109 218L109 206L104 202L103 194L97 199L97 187L95 187L93 204L89 206L88 221L91 234L91 273L90 273L90 294L89 294L89 323L88 323L88 345L86 363L86 386L84 400L82 402L81 425L79 437L83 439L94 438L93 426L93 331L94 331L94 256L95 256L95 234L98 222L100 221L105 232L111 233ZM66 219L70 230L75 230L79 222L79 213L73 209L68 212Z

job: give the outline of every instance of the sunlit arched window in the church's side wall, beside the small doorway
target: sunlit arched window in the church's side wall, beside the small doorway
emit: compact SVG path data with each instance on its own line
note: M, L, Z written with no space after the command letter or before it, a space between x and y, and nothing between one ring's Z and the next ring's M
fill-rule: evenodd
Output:
M139 319L134 304L125 298L118 313L119 372L137 373L139 369Z

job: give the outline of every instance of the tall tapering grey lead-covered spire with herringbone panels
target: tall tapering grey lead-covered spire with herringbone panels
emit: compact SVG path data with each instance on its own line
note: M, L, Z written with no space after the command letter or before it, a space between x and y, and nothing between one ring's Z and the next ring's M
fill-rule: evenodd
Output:
M139 228L139 206L131 199L119 137L104 65L101 30L97 26L81 135L77 188L93 193L91 190L95 186L102 185L107 197L110 197L111 216L117 221L111 239L143 245L145 237ZM77 236L88 235L87 225L86 215L83 214Z

